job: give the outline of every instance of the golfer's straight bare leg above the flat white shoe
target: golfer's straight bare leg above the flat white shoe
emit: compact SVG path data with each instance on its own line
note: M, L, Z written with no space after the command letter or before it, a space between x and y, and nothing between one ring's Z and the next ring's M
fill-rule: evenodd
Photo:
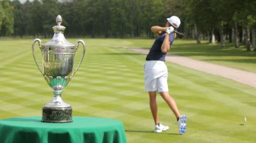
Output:
M152 112L155 124L157 124L157 123L159 123L159 120L158 120L158 114L157 114L156 91L148 92L148 94L149 94L150 110Z

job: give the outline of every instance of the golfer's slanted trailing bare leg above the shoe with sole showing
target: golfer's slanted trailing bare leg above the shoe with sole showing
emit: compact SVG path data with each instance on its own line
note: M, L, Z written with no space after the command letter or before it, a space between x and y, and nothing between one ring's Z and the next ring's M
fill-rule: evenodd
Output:
M178 112L178 107L176 105L176 102L173 100L173 98L169 95L168 92L159 92L160 95L163 97L163 99L167 102L168 106L171 108L172 112L175 114L176 118L180 116Z

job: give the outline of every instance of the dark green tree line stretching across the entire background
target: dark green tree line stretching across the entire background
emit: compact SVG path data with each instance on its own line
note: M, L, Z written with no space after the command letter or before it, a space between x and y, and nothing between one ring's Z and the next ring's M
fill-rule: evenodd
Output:
M66 37L154 37L176 15L185 38L256 51L256 0L0 0L0 36L51 38L59 14Z

